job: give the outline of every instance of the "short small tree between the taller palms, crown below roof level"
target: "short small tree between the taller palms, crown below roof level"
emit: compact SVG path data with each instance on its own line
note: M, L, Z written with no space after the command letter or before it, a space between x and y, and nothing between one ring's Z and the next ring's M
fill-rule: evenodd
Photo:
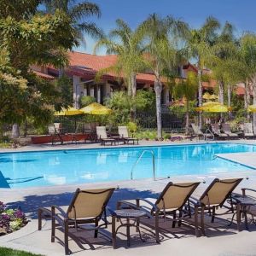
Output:
M185 109L186 109L186 135L189 134L189 101L195 99L197 92L198 79L194 72L189 72L186 79L183 79L181 83L178 83L174 87L175 96L181 98L185 97Z

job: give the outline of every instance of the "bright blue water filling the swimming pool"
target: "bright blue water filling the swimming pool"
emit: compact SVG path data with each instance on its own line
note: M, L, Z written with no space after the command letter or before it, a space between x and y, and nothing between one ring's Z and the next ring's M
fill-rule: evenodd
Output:
M0 188L130 179L131 168L145 149L154 151L156 177L255 172L215 156L256 152L256 146L235 143L4 153L0 154ZM134 168L134 178L148 177L152 177L152 159L147 152Z

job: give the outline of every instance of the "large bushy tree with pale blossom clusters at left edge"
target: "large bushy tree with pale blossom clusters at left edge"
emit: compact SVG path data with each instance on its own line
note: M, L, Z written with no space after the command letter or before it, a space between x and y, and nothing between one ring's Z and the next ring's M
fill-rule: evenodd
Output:
M6 6L6 9L10 10L9 15L5 17L4 14L0 17L0 50L5 52L11 67L11 70L4 70L4 74L12 75L16 79L26 79L26 88L19 90L16 86L17 90L12 95L20 101L11 101L4 112L5 116L8 115L18 124L21 118L25 119L26 116L31 116L35 123L46 122L54 107L60 109L63 105L58 100L58 88L32 74L30 65L65 65L68 62L65 51L78 45L67 15L61 11L56 11L54 15L34 15L36 10L26 9L25 2L16 3L16 9L24 10L24 14L18 16L15 9L13 17L13 1L10 1L6 3L10 5ZM33 5L33 8L36 8L36 5ZM2 91L5 96L10 95L9 89L10 86L5 86L5 90ZM15 133L18 135L17 130Z

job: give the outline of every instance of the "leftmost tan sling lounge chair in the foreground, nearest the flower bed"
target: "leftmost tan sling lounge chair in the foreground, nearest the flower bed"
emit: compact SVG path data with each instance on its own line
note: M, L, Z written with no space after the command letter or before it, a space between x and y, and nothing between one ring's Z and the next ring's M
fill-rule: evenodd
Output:
M70 228L83 230L95 230L94 236L97 237L98 233L106 236L101 232L102 226L107 227L106 207L110 197L113 195L114 188L110 189L77 189L73 195L67 212L64 212L61 207L51 207L51 241L55 241L56 222L60 225L61 230L64 232L64 246L66 255L70 253L68 248L68 236L74 237ZM42 208L39 210L42 211ZM47 209L46 209L47 212ZM103 219L102 219L103 215ZM99 222L103 220L103 224ZM89 224L88 227L84 225ZM95 224L92 227L91 224ZM108 237L109 238L109 237Z

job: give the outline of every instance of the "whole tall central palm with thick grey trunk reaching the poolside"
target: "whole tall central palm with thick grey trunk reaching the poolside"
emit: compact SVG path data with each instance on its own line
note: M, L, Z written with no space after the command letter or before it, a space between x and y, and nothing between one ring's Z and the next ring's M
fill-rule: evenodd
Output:
M161 124L161 91L162 79L166 68L172 73L179 63L178 41L184 38L189 29L181 20L175 20L171 16L162 19L158 15L149 15L142 24L146 41L148 67L154 73L154 92L156 102L157 137L162 137Z

